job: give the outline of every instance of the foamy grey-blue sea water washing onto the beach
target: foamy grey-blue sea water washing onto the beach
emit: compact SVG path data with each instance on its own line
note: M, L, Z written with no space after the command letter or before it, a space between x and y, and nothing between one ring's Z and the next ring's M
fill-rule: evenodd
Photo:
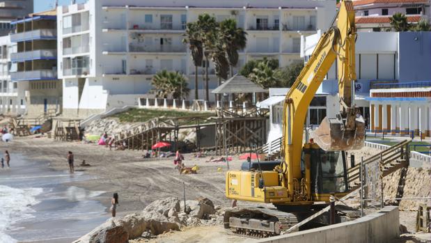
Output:
M54 171L44 162L11 155L0 168L0 243L72 242L106 221L106 208L68 182L92 179L82 172Z

